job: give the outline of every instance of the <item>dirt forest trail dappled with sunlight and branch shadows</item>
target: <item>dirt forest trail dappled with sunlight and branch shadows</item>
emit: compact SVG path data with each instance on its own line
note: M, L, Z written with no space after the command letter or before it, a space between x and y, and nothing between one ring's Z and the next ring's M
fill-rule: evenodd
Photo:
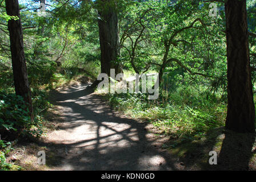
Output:
M167 138L147 131L145 123L110 109L89 84L73 84L54 94L59 129L46 135L53 170L177 170L162 144Z

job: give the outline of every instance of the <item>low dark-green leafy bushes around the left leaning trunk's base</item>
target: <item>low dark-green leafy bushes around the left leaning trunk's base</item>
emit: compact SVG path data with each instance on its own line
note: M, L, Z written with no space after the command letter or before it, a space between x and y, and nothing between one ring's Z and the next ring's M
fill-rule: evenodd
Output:
M6 90L0 91L0 131L11 133L20 131L23 134L42 135L42 111L51 105L46 99L45 91L32 89L32 101L34 106L34 120L31 121L29 111L26 109L25 102L21 96L16 96Z

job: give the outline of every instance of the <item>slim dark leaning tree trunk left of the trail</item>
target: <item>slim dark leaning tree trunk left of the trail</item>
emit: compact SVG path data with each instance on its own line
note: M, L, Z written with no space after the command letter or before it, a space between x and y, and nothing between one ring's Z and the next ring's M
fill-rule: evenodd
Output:
M18 16L19 18L18 20L10 19L8 21L15 92L17 95L23 97L29 109L31 119L33 119L31 90L27 78L27 67L23 49L23 32L19 16L19 3L18 0L6 0L5 3L7 15Z

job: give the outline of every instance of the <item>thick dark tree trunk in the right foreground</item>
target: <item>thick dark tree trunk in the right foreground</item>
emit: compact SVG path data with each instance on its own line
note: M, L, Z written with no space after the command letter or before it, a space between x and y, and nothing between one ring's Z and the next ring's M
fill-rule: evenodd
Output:
M246 1L225 3L227 39L226 129L254 133L255 109L251 84Z

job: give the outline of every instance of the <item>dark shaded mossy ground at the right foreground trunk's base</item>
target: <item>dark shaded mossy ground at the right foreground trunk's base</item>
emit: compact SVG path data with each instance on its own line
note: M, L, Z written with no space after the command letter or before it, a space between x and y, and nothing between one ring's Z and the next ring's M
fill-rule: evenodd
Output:
M171 141L166 148L190 170L256 170L253 134L235 133L218 127L207 131L199 140ZM217 153L217 165L209 164L210 151Z

